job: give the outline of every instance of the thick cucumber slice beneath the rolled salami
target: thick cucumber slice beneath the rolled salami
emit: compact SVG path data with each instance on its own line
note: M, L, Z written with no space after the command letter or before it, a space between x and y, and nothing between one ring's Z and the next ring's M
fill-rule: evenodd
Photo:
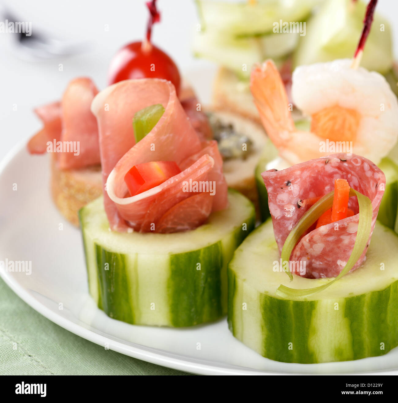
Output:
M233 335L276 361L320 363L383 355L398 345L398 236L379 222L363 266L305 301L282 299L280 284L316 287L326 278L274 271L271 219L236 249L228 266L228 325ZM338 253L338 251L336 251Z

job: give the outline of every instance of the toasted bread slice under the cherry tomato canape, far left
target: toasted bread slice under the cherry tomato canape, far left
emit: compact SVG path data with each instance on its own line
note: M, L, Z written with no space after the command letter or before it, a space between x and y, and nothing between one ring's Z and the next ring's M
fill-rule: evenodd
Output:
M51 159L51 194L60 213L79 226L78 211L102 194L101 166L82 169L60 169Z

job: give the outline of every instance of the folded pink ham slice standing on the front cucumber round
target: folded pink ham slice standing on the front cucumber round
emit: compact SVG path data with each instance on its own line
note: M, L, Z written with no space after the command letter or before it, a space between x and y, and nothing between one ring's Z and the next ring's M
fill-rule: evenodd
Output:
M155 104L162 104L164 113L151 132L135 144L133 116ZM175 231L191 229L203 222L203 211L208 215L226 207L227 185L216 144L201 141L172 83L162 79L121 81L100 92L91 110L99 127L104 204L112 230L167 232L165 222L172 222ZM174 161L182 172L161 185L126 197L125 174L133 166L151 161ZM188 201L180 204L181 209L175 207L197 193L210 193L209 181L215 187L211 199L203 196L189 205ZM195 189L195 183L204 185ZM203 200L205 208L198 200ZM188 211L193 214L195 206L198 219L184 217Z

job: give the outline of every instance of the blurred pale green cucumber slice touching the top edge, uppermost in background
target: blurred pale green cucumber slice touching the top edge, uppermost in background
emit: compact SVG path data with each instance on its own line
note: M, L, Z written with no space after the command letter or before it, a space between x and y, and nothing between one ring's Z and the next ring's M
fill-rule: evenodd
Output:
M272 32L273 24L305 21L320 0L197 0L202 30L228 32L231 35L258 35Z

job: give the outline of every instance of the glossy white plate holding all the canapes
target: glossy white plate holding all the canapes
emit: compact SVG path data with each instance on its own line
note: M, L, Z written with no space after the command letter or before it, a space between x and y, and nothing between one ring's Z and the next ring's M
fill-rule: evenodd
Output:
M171 329L108 318L88 295L80 232L52 203L49 164L48 156L30 156L19 145L0 166L0 260L32 262L30 275L0 274L19 297L54 323L131 357L196 374L398 373L397 348L358 361L286 364L265 359L234 339L226 319Z

